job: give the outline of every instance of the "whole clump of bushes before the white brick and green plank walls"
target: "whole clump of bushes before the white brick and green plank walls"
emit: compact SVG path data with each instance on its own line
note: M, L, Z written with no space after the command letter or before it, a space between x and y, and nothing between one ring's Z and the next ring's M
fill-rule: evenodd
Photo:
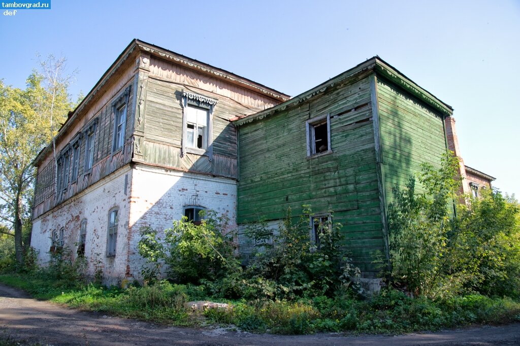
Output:
M166 264L172 280L203 284L207 294L217 297L276 300L331 295L341 285L351 284L352 278L357 280L360 272L340 248L338 224L321 225L319 248L311 242L310 215L305 206L293 222L288 210L274 241L255 251L245 268L236 251L235 233L227 230L227 218L213 211L201 224L185 218L174 221L174 227L164 231L164 241L157 231L144 228L138 245L147 259L142 275L153 282ZM256 241L271 236L262 223L252 225L248 234Z

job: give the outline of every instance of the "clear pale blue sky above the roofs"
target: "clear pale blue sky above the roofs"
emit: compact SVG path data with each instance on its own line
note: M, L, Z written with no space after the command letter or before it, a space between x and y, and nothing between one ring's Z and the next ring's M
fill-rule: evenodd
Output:
M454 108L465 164L520 197L518 0L52 0L0 14L0 78L23 87L36 52L62 54L86 94L133 38L292 96L379 55Z

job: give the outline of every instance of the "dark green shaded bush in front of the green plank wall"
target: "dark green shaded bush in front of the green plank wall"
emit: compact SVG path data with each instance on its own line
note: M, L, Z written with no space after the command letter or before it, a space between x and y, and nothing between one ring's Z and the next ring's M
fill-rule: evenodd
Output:
M246 298L294 299L303 294L331 294L339 286L350 284L350 278L360 276L340 248L341 226L330 219L321 224L318 249L310 239L310 215L310 207L304 206L302 216L293 222L289 209L273 245L267 243L254 252L245 271ZM270 235L262 223L247 234L255 242ZM341 267L341 262L346 264Z

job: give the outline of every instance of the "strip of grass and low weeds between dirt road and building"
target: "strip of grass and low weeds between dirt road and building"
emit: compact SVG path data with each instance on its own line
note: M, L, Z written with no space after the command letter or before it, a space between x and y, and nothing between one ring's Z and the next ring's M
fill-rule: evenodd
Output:
M360 300L348 291L330 297L296 301L222 300L204 297L201 286L158 282L120 289L93 284L44 280L30 275L1 275L0 282L22 288L38 299L69 307L138 318L177 326L225 324L252 332L311 334L314 332L392 333L438 330L472 323L520 321L520 303L510 298L468 295L448 300L412 299L396 290ZM229 302L233 309L194 312L190 300Z

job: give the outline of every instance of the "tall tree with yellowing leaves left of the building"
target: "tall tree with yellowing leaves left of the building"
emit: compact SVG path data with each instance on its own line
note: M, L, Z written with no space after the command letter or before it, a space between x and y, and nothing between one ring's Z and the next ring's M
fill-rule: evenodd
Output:
M57 125L73 105L67 90L70 78L61 77L64 59L50 56L41 65L43 74L33 71L24 90L0 81L0 220L8 227L4 233L15 238L20 265L22 228L30 219L35 178L32 162L54 139Z

